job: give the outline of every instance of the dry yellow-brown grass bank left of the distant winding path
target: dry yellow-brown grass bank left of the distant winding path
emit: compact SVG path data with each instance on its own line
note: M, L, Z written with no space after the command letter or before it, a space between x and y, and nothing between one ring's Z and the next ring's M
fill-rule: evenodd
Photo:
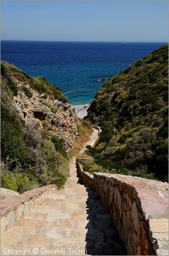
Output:
M81 148L85 146L92 135L92 125L89 122L78 119L76 125L79 137L76 139L72 150L69 152L72 157L78 156Z

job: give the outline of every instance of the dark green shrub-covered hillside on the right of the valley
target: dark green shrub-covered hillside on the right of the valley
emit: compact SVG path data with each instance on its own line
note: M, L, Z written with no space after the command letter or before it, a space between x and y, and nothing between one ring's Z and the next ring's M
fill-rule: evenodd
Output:
M133 172L168 174L168 45L112 76L88 119L101 126L97 153Z

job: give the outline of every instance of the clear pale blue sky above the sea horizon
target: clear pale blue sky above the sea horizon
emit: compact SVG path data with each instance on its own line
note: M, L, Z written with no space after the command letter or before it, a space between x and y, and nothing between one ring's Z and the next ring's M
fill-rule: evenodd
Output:
M1 2L1 38L167 41L166 1Z

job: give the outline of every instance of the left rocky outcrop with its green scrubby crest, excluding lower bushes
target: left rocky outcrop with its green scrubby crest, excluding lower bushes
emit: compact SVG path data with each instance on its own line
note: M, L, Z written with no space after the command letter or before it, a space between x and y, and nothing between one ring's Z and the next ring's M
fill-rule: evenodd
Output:
M8 84L5 90L11 94L16 112L25 123L62 138L69 151L78 136L76 114L62 90L44 77L29 76L5 61L1 63L1 76Z

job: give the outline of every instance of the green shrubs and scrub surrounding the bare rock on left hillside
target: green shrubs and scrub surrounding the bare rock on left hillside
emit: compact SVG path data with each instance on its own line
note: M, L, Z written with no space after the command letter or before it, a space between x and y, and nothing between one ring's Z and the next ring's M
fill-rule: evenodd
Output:
M19 193L51 183L63 187L69 175L63 139L46 130L39 132L20 118L12 101L22 89L15 78L52 99L65 100L62 91L45 78L33 78L6 62L1 64L1 186ZM29 90L24 93L32 96Z

